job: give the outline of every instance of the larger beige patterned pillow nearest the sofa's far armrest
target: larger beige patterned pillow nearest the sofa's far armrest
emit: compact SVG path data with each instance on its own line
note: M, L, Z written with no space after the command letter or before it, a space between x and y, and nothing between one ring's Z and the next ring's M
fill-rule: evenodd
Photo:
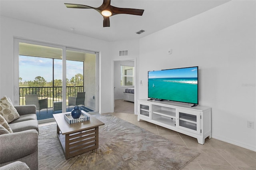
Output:
M20 117L19 113L6 96L0 99L0 115L6 119L7 123L10 123Z

